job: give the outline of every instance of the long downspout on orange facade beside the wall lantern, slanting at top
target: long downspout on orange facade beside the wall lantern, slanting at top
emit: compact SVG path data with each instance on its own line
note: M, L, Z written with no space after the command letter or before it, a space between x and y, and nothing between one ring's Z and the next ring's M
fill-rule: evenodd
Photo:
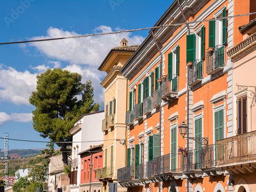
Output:
M185 18L185 15L183 13L183 10L180 6L180 1L178 0L178 5L179 5L179 8L180 8L180 12L182 14L182 17L184 19L184 22L186 23L186 18ZM187 26L187 34L190 35L190 30L189 30L189 25L186 23L186 26ZM188 73L188 68L187 68L187 79L189 79L189 73ZM189 137L189 87L188 87L188 81L187 81L187 126L188 126L188 129L187 129L187 137ZM189 142L188 142L188 139L187 139L187 152L189 151ZM187 178L187 192L189 192L189 179Z

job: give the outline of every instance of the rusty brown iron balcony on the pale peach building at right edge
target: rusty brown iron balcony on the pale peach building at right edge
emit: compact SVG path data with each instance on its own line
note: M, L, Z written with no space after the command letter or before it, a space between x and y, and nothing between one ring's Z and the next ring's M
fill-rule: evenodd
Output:
M231 174L256 169L256 131L217 141L217 165Z

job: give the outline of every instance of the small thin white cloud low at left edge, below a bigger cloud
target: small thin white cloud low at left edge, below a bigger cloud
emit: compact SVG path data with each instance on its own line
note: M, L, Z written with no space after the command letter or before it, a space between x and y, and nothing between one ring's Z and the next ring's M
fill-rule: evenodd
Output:
M32 116L32 113L12 113L11 115L8 115L4 112L0 112L0 125L3 125L8 121L27 123L32 121Z

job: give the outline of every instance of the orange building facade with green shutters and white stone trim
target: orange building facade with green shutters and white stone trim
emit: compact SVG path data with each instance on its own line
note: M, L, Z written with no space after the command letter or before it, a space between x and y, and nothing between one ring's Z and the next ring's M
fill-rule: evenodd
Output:
M253 17L222 17L253 12L253 4L175 1L155 25L170 26L151 30L121 68L129 110L126 166L117 181L127 191L233 191L233 175L220 163L227 148L219 144L237 134L237 87L226 52L243 40L238 27ZM190 23L174 25L184 18Z

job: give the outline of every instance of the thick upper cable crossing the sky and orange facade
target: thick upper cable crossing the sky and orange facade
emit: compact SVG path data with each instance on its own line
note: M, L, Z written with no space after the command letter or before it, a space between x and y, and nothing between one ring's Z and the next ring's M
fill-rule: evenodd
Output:
M40 42L40 41L61 40L61 39L69 39L69 38L80 38L80 37L90 37L90 36L126 33L126 32L134 32L134 31L142 31L142 30L147 30L147 29L158 29L158 28L165 28L165 27L182 26L182 25L193 24L193 23L210 22L212 20L228 19L228 18L234 18L234 17L248 16L248 15L253 15L253 14L256 14L256 12L240 14L240 15L233 15L233 16L226 16L226 17L219 17L219 18L212 18L212 19L205 19L205 20L196 20L196 21L193 20L193 21L190 21L190 22L184 22L184 23L178 23L178 24L169 24L169 25L146 27L146 28L140 28L140 29L122 30L122 31L115 31L115 32L108 32L108 33L96 33L96 34L88 34L88 35L78 35L78 36L69 36L69 37L48 38L48 39L35 39L35 40L26 40L26 41L2 42L2 43L0 43L0 45L24 44L26 42Z

